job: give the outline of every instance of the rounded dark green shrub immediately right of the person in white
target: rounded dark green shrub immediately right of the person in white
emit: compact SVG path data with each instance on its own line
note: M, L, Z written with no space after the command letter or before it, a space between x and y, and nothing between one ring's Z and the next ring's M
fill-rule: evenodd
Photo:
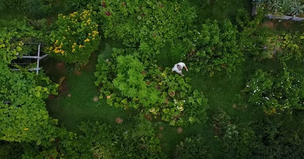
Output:
M189 68L213 75L215 71L232 71L244 61L237 45L237 28L229 20L221 23L207 20L202 27L193 35L193 49L188 54Z

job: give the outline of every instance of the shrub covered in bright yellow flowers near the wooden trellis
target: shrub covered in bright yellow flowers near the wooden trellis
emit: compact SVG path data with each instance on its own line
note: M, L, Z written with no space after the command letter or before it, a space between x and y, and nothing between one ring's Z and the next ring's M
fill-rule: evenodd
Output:
M52 46L46 48L47 52L67 63L87 64L100 42L98 25L91 19L94 14L90 10L67 16L59 14L57 30L50 35Z

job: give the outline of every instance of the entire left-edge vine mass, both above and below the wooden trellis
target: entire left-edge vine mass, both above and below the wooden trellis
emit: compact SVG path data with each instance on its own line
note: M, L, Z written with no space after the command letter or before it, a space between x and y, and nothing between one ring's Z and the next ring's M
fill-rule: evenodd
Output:
M56 120L49 117L44 99L57 94L58 85L43 73L13 71L8 64L16 55L32 51L39 31L17 20L6 24L0 33L0 133L7 141L35 141L49 139ZM36 47L36 46L35 46Z

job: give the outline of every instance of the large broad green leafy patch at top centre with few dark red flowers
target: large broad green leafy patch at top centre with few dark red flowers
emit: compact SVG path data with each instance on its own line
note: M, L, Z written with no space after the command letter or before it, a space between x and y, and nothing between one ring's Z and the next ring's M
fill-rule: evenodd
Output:
M158 54L166 42L183 37L197 17L185 0L102 0L99 9L104 36L128 47L146 46L145 56Z

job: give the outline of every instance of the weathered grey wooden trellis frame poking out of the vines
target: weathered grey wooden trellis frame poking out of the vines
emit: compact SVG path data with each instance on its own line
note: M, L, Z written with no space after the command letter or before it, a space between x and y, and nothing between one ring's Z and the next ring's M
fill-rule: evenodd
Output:
M17 56L17 59L15 60L14 64L23 66L23 65L27 65L30 64L32 59L37 59L37 65L35 68L28 68L29 71L36 71L36 73L39 73L39 61L45 57L47 57L48 54L45 54L43 56L40 56L40 45L38 46L38 51L37 51L37 56ZM20 70L19 68L12 68L13 70Z

